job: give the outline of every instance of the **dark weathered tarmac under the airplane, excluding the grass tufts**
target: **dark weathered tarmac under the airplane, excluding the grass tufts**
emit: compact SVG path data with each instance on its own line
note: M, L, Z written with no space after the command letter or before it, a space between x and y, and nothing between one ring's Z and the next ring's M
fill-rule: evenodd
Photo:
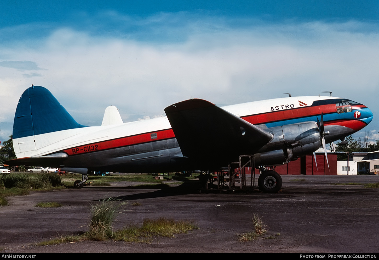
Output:
M106 178L106 177L104 177ZM199 193L182 185L165 190L84 187L7 197L0 208L1 253L378 253L379 189L376 175L285 175L277 194L259 191ZM361 183L347 185L348 183ZM337 185L338 184L338 185ZM143 219L193 221L199 229L151 243L81 241L54 246L35 243L87 230L90 203L116 198L128 203L114 222L119 229ZM38 208L59 202L60 208ZM138 202L138 206L132 203ZM268 226L262 237L240 242L252 232L252 216Z

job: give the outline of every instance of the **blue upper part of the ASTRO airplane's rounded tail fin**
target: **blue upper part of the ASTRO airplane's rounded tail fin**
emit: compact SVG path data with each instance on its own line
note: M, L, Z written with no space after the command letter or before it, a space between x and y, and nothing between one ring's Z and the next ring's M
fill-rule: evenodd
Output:
M81 127L85 126L78 124L49 90L32 86L17 105L13 139Z

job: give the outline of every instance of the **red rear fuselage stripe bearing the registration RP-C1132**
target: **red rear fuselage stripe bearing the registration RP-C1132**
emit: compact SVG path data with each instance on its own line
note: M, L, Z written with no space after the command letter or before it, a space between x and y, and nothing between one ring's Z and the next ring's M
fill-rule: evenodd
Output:
M155 134L157 134L157 138L152 139L155 137ZM117 147L124 147L129 145L136 145L140 143L147 143L147 142L153 142L153 141L159 141L164 139L170 139L175 138L174 132L172 129L166 129L156 132L148 132L144 134L138 134L135 136L127 136L127 137L121 137L118 139L112 139L112 140L106 140L102 142L96 142L96 143L90 143L88 145L81 145L77 147L73 147L70 149L63 150L68 155L75 155L75 154L82 154L82 153L89 153L94 151L101 151L101 150L107 150L111 148L117 148Z

